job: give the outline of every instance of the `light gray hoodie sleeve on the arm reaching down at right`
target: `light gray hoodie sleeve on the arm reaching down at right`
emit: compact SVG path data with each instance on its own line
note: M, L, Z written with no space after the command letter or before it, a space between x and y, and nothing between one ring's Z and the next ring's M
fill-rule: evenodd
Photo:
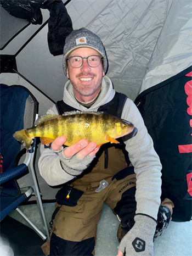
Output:
M131 99L126 101L122 119L130 121L138 129L134 137L126 140L125 136L126 150L137 177L136 214L147 214L157 219L161 203L162 165L159 156L155 152L153 140L144 125L142 115Z

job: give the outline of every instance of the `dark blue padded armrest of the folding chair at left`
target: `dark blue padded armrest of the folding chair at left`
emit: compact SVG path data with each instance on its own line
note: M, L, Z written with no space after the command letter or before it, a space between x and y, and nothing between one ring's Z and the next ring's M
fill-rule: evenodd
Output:
M9 169L8 171L3 172L0 174L0 184L7 182L9 180L14 179L15 177L27 172L28 168L26 164L20 164L15 168Z

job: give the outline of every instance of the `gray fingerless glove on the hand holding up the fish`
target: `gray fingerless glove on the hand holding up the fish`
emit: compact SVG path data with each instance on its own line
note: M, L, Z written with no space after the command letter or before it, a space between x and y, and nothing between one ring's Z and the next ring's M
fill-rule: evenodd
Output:
M87 169L88 165L93 161L94 157L87 155L84 159L78 159L77 154L72 157L65 157L63 151L66 148L61 148L60 151L54 151L58 154L62 168L67 174L77 176Z

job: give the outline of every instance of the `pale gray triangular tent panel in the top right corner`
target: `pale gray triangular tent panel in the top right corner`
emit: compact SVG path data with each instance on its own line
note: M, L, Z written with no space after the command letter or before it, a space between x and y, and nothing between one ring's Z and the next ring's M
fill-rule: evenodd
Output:
M191 0L173 1L139 93L192 65Z

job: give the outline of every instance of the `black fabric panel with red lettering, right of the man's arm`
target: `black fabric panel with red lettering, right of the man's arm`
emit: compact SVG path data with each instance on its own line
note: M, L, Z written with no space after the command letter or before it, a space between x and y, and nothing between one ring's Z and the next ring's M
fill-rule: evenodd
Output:
M170 83L156 86L135 100L162 163L162 199L173 201L174 221L188 221L192 215L186 177L192 172L192 152L179 152L179 145L192 144L192 116L188 114L192 106L186 93L191 80L190 74L172 78Z

